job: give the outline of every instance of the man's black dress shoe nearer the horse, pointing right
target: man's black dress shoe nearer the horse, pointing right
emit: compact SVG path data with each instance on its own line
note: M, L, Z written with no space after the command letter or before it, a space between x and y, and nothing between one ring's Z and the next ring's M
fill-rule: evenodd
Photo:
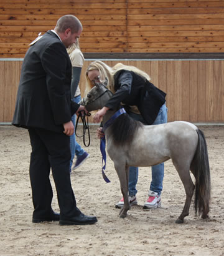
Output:
M97 219L95 216L87 216L85 214L80 214L71 219L59 220L60 225L90 225L90 224L94 224L95 222L97 222Z

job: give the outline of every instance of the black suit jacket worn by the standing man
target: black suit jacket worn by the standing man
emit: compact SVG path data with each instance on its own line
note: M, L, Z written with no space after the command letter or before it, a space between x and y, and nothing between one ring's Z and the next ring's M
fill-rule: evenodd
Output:
M12 124L63 132L79 107L71 101L71 78L65 46L54 32L46 32L24 57Z

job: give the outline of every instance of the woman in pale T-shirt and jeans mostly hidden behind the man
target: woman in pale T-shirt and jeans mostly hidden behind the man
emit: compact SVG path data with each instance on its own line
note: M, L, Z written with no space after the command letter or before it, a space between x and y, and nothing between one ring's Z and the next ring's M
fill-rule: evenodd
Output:
M70 57L70 60L72 62L72 82L71 82L71 96L73 102L80 102L81 100L81 92L80 87L78 86L78 83L80 81L80 74L83 67L83 62L85 61L84 56L82 54L82 51L80 50L79 41L73 43L70 47L67 49L68 55ZM72 116L72 122L75 126L76 121L76 114ZM78 144L78 142L75 140L75 132L73 132L72 135L70 135L70 150L71 150L71 159L70 159L70 172L72 170L77 169L80 167L80 165L85 162L86 159L90 156L84 149L82 149L81 145ZM72 163L74 157L77 157L75 164L72 168Z

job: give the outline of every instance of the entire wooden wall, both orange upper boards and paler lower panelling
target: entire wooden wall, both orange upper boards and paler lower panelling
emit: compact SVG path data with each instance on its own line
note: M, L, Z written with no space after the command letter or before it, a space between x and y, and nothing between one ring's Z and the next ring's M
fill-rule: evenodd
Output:
M224 123L223 0L1 0L0 122L12 120L22 64L17 58L65 14L82 21L85 56L120 59L151 75L167 92L169 121ZM128 61L134 54L139 60ZM170 59L162 60L164 54ZM171 59L175 54L182 61ZM185 59L192 54L212 60Z

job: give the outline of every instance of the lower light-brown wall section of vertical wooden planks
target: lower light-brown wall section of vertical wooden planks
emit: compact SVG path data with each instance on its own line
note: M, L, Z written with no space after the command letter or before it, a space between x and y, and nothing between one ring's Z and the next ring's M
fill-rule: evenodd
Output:
M80 87L85 90L85 61ZM105 61L114 66L118 61ZM224 61L122 61L167 92L168 120L224 124ZM0 61L0 122L11 122L22 61ZM91 122L91 120L90 120Z

